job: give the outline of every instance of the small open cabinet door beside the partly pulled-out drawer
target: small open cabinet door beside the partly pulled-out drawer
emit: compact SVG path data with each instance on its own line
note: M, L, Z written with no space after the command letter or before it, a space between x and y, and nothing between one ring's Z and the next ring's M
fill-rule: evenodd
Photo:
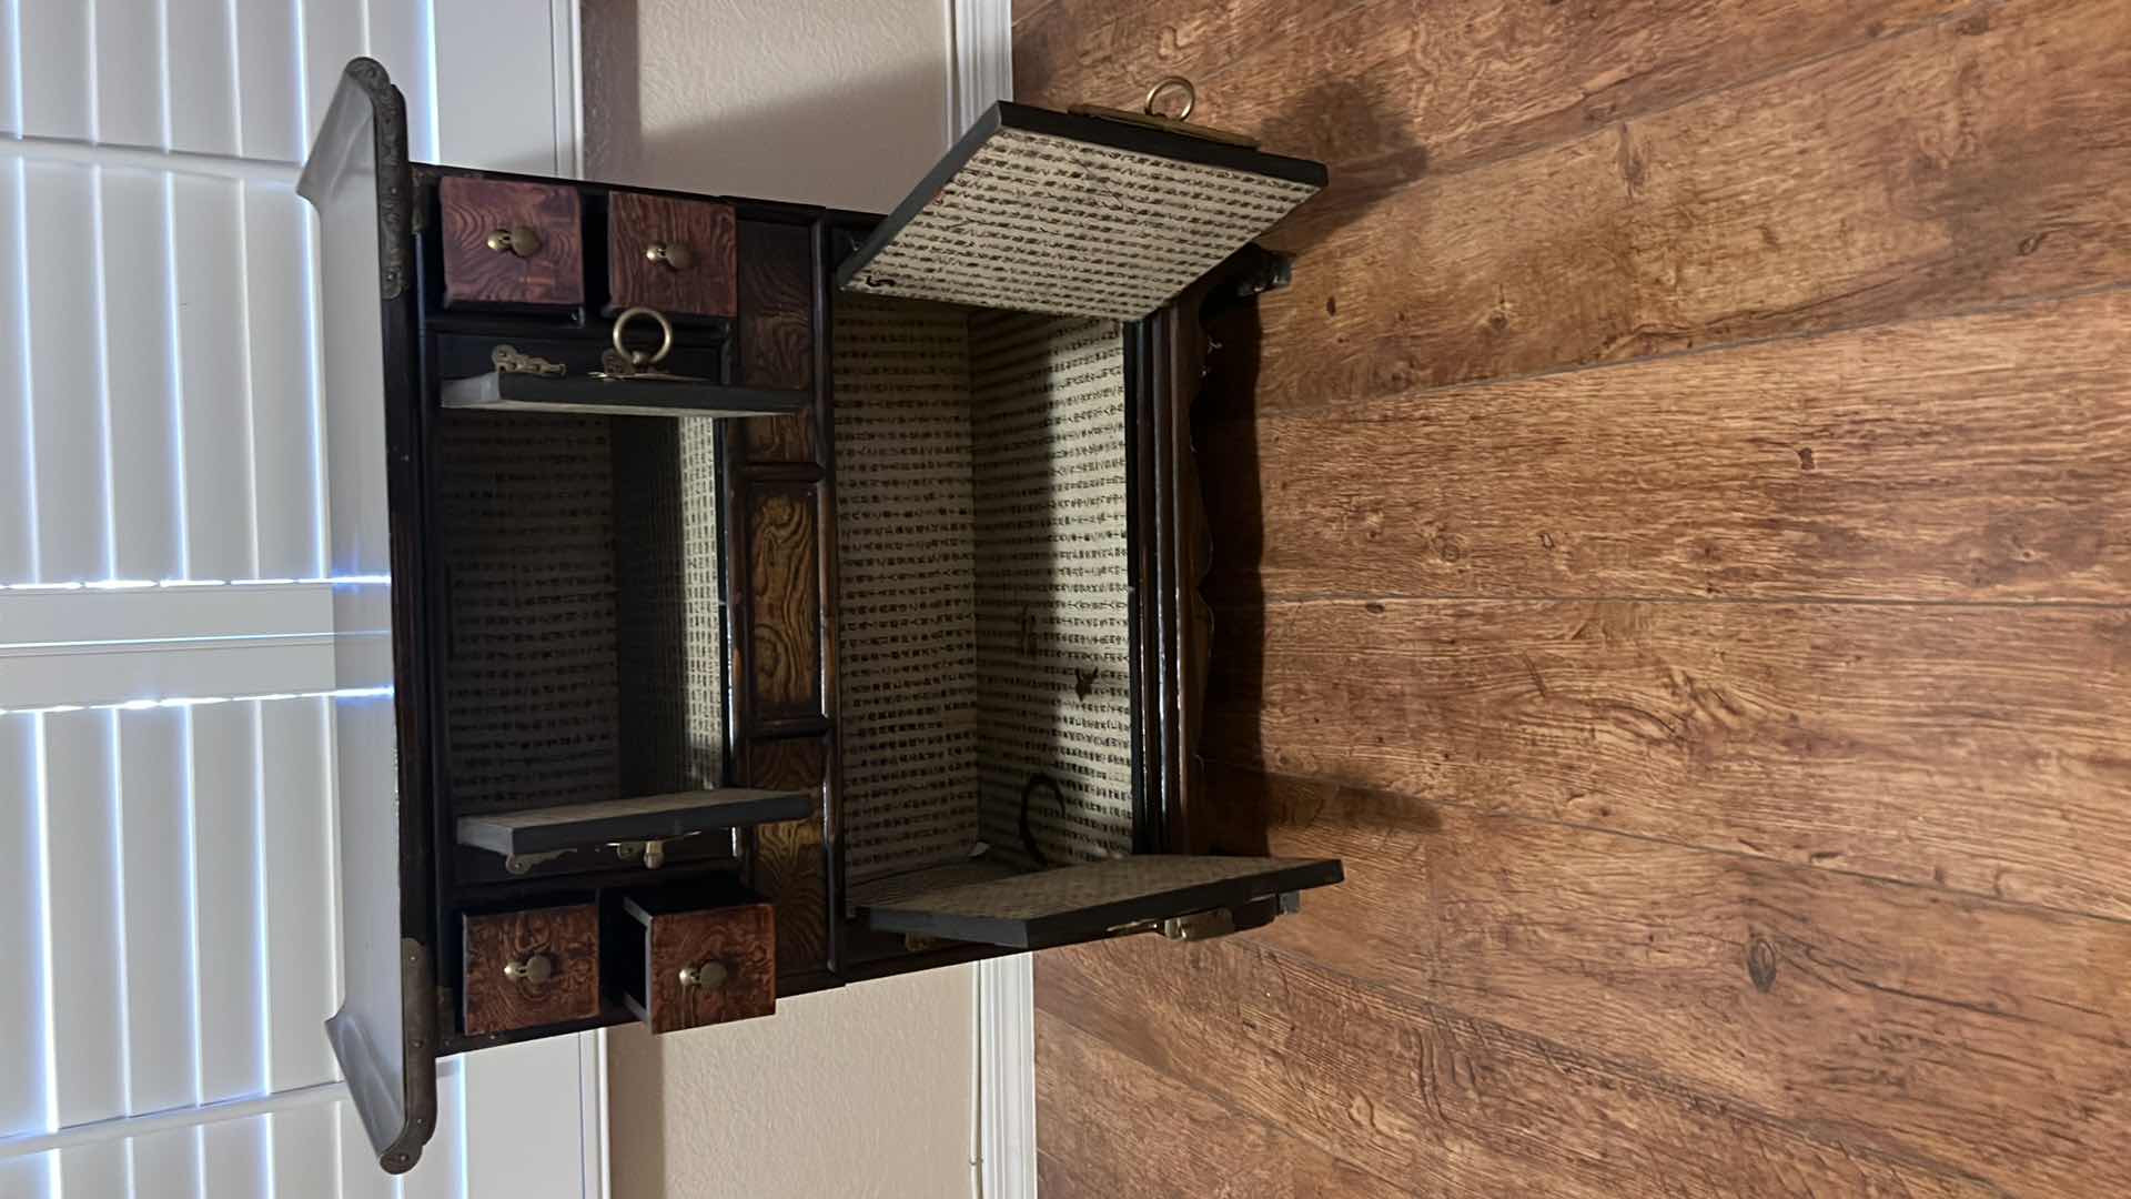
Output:
M716 787L458 817L458 843L524 858L814 815L814 792Z

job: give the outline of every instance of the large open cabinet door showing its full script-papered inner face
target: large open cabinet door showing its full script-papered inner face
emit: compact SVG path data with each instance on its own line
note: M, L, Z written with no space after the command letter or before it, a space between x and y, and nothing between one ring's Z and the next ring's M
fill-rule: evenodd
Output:
M837 286L1140 320L1325 186L1321 162L1123 117L993 105L844 260Z

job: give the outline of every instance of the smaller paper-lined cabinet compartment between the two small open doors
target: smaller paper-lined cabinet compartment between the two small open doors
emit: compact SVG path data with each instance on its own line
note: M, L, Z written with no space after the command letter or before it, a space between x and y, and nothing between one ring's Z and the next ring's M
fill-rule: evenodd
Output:
M450 815L716 789L716 422L452 410L435 422Z

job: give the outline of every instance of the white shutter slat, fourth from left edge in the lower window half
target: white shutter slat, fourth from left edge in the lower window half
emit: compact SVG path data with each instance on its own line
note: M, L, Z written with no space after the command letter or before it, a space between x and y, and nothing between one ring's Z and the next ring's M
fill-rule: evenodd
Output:
M192 708L192 913L202 1103L258 1094L266 1084L256 717L256 702Z

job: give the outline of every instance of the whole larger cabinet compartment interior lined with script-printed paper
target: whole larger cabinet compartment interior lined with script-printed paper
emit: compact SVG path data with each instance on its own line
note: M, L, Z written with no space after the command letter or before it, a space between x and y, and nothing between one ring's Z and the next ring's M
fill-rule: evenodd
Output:
M1127 856L1123 326L842 294L833 335L852 902Z

